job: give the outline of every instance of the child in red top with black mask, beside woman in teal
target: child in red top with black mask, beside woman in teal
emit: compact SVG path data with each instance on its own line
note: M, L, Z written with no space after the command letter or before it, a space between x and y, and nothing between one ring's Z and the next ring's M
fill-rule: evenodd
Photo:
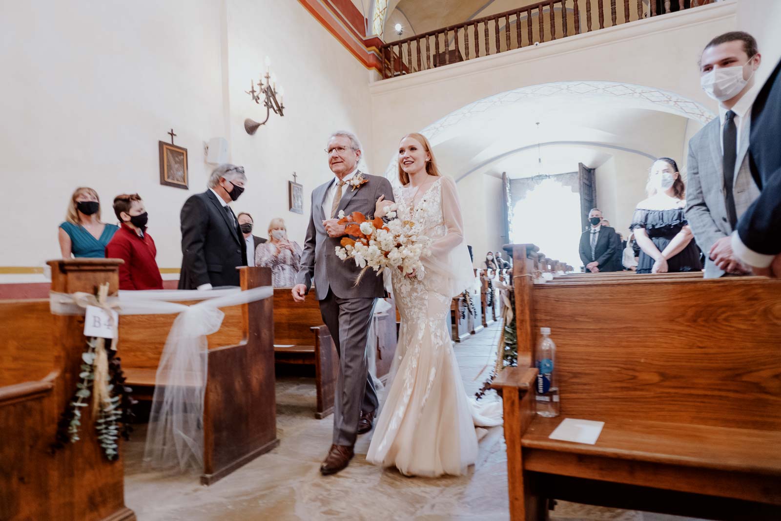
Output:
M146 231L148 213L138 194L114 198L114 213L122 223L105 247L106 259L122 259L120 290L162 290L160 269L155 262L157 248Z

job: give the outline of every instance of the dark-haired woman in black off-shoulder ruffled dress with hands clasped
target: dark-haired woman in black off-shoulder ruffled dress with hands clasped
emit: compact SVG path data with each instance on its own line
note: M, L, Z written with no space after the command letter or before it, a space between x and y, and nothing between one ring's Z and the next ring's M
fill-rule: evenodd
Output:
M683 215L685 187L673 159L654 162L647 191L650 197L637 204L629 226L641 250L637 273L701 271L700 249Z

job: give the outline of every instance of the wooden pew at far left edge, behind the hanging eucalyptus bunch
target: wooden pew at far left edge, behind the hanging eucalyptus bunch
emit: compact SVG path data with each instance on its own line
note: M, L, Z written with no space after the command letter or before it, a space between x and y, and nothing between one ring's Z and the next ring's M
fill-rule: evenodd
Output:
M112 259L48 262L52 290L119 285ZM57 423L79 380L84 316L53 316L47 299L0 301L0 519L130 521L123 456L105 459L91 421L80 441L52 452ZM90 409L91 410L91 409ZM89 415L84 415L85 418Z

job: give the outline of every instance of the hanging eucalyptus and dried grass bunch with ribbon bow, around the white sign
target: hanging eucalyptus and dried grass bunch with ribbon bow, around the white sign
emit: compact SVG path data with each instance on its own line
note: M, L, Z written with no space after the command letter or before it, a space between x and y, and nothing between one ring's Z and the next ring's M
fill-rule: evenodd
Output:
M74 294L73 302L82 307L95 304L109 310L113 305L109 306L108 293L109 284L101 284L97 298L88 294ZM82 411L86 412L90 405L88 398L92 398L92 417L97 416L95 430L107 459L114 461L119 457L119 436L125 440L130 439L130 432L133 430L130 423L134 416L132 406L136 401L131 398L133 390L124 385L122 366L116 357L116 324L113 324L113 330L114 341L109 341L108 348L105 338L88 338L87 348L81 354L84 363L80 366L80 381L76 384L77 389L69 402L69 408L62 413L59 420L55 442L52 444L53 450L80 440L81 422L87 419L87 415L82 415Z

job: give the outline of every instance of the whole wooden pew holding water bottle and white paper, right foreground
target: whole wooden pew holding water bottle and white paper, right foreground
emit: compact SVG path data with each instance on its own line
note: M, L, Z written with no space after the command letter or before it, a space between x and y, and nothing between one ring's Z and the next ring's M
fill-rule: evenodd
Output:
M519 367L492 384L504 396L511 519L547 519L552 499L781 519L781 281L530 284L525 253L514 248ZM557 345L553 419L533 409L540 327ZM594 445L549 439L564 418L604 429Z

